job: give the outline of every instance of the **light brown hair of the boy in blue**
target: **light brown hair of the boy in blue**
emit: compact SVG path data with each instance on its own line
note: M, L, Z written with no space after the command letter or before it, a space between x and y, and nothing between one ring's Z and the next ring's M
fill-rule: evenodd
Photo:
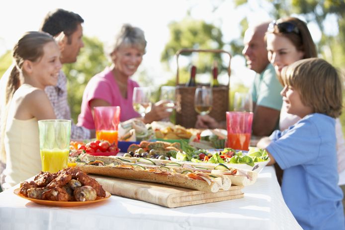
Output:
M343 109L343 76L320 58L299 60L281 72L281 82L298 90L304 105L315 113L337 118Z

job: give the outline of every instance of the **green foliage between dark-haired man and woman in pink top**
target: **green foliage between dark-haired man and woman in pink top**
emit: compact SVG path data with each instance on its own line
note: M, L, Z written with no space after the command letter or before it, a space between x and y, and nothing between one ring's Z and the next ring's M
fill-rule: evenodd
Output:
M78 61L65 64L63 71L68 78L68 102L71 115L77 121L81 111L83 92L88 80L104 70L109 64L103 53L103 44L97 38L84 36L85 47L81 50Z

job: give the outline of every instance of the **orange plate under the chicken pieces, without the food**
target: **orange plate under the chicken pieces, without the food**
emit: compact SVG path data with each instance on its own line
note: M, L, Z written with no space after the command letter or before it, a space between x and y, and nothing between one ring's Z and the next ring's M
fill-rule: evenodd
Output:
M32 202L35 202L39 205L47 205L47 206L57 206L57 207L76 207L76 206L83 206L88 205L100 201L104 201L111 197L111 194L109 192L105 192L105 197L98 197L94 201L48 201L48 200L39 200L39 199L33 199L28 198L26 196L23 196L20 194L20 188L17 188L13 192L15 195L20 196L21 198L24 198L26 200L30 200Z

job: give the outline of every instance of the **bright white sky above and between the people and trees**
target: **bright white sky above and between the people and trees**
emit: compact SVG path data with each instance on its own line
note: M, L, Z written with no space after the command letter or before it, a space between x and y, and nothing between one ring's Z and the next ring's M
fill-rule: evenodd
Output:
M0 55L13 47L25 31L37 30L46 13L55 8L64 8L79 13L85 20L84 34L95 36L107 42L123 23L130 23L142 28L148 41L147 53L140 68L155 79L172 76L160 63L161 53L169 40L168 24L180 21L192 7L191 16L203 19L219 26L223 32L223 41L229 42L240 37L239 22L245 15L249 22L269 20L267 10L259 9L257 0L250 0L250 9L234 10L233 0L14 0L5 1L0 8ZM213 5L221 4L212 12ZM249 13L250 12L250 13ZM243 80L249 85L253 72L245 67L242 57L232 59L234 80ZM173 73L173 75L175 75ZM243 75L247 76L244 77Z

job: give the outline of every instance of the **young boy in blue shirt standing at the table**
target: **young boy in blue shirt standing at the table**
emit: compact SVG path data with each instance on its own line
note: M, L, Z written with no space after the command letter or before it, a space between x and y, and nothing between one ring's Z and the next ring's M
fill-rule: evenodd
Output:
M282 71L287 112L302 119L259 141L284 170L281 191L304 230L345 230L338 184L335 118L342 112L343 80L319 58L297 61Z

